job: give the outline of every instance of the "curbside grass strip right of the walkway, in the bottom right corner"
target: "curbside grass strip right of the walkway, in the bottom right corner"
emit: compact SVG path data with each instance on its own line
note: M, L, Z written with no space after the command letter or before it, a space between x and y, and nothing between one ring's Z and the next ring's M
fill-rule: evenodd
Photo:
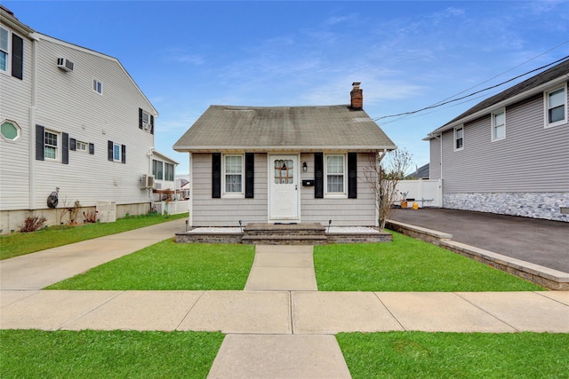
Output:
M341 333L357 378L567 378L569 334Z

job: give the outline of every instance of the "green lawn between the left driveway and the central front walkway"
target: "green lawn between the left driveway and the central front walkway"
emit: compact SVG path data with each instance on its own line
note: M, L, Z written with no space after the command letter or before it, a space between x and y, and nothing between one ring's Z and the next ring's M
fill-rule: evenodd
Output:
M241 290L255 247L158 242L48 289Z

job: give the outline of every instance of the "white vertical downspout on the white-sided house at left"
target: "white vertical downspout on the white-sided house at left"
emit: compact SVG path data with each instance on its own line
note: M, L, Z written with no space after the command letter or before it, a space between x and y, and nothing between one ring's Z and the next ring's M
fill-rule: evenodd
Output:
M28 132L29 132L29 209L36 209L34 204L36 199L36 107L37 107L37 42L39 39L34 34L29 35L32 39L32 93L31 104L28 111Z

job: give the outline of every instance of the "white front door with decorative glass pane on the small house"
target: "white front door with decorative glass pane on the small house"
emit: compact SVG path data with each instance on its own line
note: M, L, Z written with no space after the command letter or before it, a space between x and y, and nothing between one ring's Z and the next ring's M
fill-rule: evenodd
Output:
M269 221L299 221L298 155L270 155L268 160Z

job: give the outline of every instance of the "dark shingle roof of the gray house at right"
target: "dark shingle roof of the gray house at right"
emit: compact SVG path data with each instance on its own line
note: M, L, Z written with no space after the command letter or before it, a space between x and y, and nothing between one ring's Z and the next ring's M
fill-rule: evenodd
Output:
M569 74L569 59L566 59L563 62L557 64L556 66L551 67L541 72L538 75L534 75L529 79L526 79L524 82L517 83L516 85L510 87L509 89L501 91L500 93L494 95L493 97L479 102L476 106L471 107L463 114L453 118L453 120L451 120L450 122L446 122L445 125L441 126L434 132L445 130L447 126L453 125L456 122L460 122L463 118L466 118L469 115L477 114L477 112L480 112L486 108L493 107L493 105L499 104L502 101L511 99L519 94L524 93L525 91L530 91L533 88L540 86L541 84L548 83L552 80L557 79L558 77L568 74ZM528 94L528 97L529 96L532 95Z

